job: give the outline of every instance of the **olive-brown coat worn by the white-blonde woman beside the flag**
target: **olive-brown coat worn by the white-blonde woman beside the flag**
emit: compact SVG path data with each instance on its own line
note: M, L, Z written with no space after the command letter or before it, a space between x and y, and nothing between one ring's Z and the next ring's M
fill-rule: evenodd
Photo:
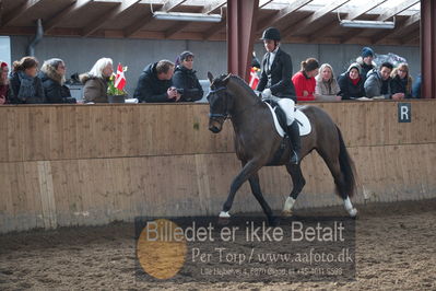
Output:
M89 73L83 73L79 77L83 86L83 100L85 102L108 103L107 98L107 80L91 77Z

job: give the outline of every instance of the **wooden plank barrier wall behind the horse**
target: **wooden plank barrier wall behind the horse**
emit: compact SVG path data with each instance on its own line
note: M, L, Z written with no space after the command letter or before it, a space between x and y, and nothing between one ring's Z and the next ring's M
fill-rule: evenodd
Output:
M342 130L361 184L353 199L436 197L436 102L318 103ZM215 214L240 165L233 129L208 130L207 104L0 106L0 232L94 225L137 216ZM304 160L296 207L342 203L317 153ZM291 191L283 167L261 170L276 210ZM259 211L248 185L232 212Z

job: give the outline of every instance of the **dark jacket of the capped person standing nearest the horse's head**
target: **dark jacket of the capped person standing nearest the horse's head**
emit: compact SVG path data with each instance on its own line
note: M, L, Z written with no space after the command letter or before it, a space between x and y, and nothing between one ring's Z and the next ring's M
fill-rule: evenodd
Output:
M196 71L184 66L177 66L173 75L173 85L181 93L179 102L198 101L203 97L203 89L196 75Z

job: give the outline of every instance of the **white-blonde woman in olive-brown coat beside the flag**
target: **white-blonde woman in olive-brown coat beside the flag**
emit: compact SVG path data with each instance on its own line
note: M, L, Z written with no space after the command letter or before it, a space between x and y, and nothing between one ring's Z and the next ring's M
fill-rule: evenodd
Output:
M107 82L114 73L113 60L110 58L101 58L97 60L91 71L82 73L79 78L84 84L83 100L85 103L108 103Z

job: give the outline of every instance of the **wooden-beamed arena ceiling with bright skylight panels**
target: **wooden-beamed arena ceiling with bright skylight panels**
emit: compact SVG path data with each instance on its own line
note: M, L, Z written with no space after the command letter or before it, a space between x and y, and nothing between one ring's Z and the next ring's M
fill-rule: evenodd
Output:
M222 14L220 23L155 20L152 11ZM226 39L226 1L211 0L2 0L0 35L145 39ZM342 20L392 21L393 30L346 28ZM284 43L420 44L417 0L259 0L257 36L281 30Z

